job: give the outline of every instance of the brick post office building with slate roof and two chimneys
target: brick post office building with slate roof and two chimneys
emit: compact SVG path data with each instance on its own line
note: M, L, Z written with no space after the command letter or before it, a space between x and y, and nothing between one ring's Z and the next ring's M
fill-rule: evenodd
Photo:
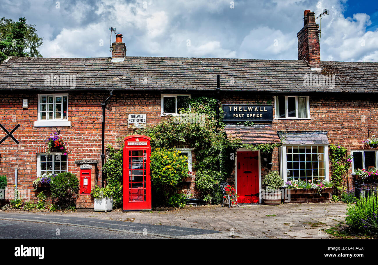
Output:
M91 186L101 186L104 146L116 146L117 138L133 132L130 114L146 115L146 126L153 126L177 115L187 98L215 92L228 110L228 137L257 144L285 135L271 160L237 150L236 174L229 178L236 186L251 171L238 167L247 159L257 161L246 166L257 172L254 191L269 169L279 170L284 180L329 180L329 144L355 154L350 174L354 167L376 167L377 149L362 141L378 133L378 63L321 61L318 28L314 13L305 11L298 60L128 57L120 34L112 58L9 57L0 65L0 123L9 132L20 124L12 133L19 144L11 137L0 144L0 175L13 186L17 169L17 187L29 190L31 199L37 176L68 170L79 178L83 164L91 166ZM236 124L245 120L255 125ZM56 129L69 153L46 156L45 140ZM181 150L191 160L191 149ZM90 195L80 195L77 206L93 207Z

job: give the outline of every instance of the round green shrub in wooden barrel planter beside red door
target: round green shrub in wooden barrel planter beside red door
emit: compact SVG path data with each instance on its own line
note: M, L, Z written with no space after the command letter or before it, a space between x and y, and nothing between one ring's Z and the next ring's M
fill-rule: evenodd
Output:
M265 192L262 193L263 203L266 205L280 205L282 193L279 190L283 186L283 180L277 171L271 170L265 175L262 185Z

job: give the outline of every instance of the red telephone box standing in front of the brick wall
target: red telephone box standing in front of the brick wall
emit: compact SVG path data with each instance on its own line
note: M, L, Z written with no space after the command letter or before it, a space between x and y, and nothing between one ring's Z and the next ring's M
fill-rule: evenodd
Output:
M123 210L151 210L150 138L131 135L124 141Z

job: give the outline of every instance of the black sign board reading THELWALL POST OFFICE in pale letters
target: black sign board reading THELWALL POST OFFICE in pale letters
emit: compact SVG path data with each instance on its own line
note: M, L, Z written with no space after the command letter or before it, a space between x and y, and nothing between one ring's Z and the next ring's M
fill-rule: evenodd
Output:
M273 121L273 105L222 105L223 121Z

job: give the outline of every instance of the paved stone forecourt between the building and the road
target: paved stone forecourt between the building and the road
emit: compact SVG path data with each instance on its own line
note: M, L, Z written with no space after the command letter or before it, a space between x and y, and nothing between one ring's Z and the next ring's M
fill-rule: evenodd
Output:
M242 238L325 238L321 229L345 220L344 203L250 205L229 208L191 207L175 211L152 212L17 212L28 216L72 217L132 222L222 232ZM5 212L0 212L0 218ZM6 212L7 214L9 212ZM13 212L12 212L13 213ZM3 215L5 216L5 215ZM47 216L46 216L47 217Z

